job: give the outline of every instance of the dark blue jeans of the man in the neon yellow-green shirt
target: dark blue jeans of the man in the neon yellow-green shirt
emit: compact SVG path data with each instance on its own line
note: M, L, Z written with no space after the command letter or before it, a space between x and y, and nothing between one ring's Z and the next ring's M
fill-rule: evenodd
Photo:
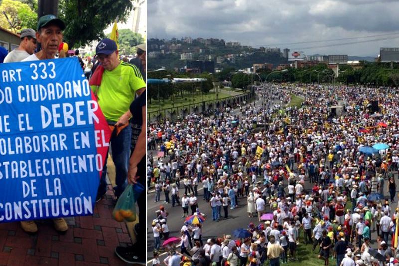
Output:
M130 143L132 128L130 125L125 127L119 132L119 135L116 135L116 130L111 135L111 151L112 151L112 160L115 164L115 196L118 198L122 192L125 190L127 185L127 174L129 168L129 156L130 156ZM108 160L108 152L104 162L104 168L100 178L100 184L98 186L97 195L101 196L107 192L107 160Z

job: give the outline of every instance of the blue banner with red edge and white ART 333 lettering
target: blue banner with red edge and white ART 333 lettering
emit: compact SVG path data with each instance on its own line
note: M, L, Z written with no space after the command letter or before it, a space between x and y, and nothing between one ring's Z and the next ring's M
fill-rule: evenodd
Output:
M0 64L0 222L92 214L110 135L76 57Z

